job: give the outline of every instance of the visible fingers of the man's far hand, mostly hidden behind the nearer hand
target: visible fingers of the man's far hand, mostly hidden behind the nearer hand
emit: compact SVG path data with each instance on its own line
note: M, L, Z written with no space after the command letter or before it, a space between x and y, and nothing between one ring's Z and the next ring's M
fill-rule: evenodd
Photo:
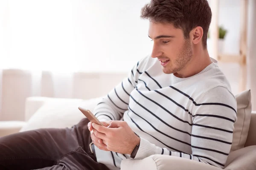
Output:
M111 122L112 122L112 120L111 120L111 121L108 121L108 122L102 122L102 124L103 124L105 127L107 127L107 126L110 125ZM104 143L102 142L102 139L97 138L97 137L95 136L95 134L93 133L92 122L89 122L87 126L88 126L88 129L90 130L91 139L92 139L93 143L94 143L99 149L109 151L109 150L107 149L106 144L104 144Z

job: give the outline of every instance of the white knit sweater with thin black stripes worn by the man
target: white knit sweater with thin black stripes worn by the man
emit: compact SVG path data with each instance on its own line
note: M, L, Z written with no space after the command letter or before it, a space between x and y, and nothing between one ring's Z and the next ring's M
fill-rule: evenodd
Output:
M223 168L230 152L236 98L215 59L200 73L178 78L164 74L150 56L96 106L101 121L123 118L140 136L135 159L154 154L178 156ZM130 155L95 148L96 158L118 170Z

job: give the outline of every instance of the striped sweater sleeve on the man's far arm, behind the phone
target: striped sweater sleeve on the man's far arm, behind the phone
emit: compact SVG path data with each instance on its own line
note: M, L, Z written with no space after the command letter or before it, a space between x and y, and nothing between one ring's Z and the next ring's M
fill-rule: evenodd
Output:
M138 71L140 65L141 63L137 62L129 72L128 77L113 88L95 107L93 114L99 120L120 120L123 113L128 110L131 91L136 87L140 76Z

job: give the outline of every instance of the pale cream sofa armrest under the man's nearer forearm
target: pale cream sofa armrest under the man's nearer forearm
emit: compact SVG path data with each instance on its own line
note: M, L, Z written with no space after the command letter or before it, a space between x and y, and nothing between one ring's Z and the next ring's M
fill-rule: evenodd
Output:
M121 170L221 170L209 164L168 155L152 155L142 160L125 159Z

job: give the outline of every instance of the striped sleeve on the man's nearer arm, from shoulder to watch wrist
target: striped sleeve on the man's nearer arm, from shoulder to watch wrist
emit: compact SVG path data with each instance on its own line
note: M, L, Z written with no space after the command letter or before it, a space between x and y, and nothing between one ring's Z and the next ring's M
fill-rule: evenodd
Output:
M236 99L227 88L216 87L192 103L192 154L157 147L141 138L135 159L154 154L183 157L224 168L229 155L234 122L236 122ZM209 128L212 127L212 128Z

